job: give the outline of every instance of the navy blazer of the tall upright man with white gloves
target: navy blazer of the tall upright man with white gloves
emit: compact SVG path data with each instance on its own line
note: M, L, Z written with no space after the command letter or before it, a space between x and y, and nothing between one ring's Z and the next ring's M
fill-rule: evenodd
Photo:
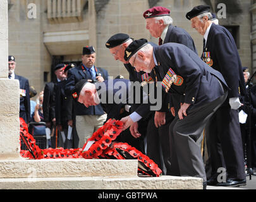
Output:
M243 69L231 33L226 28L212 23L202 59L204 59L204 52L207 52L209 56L209 61L207 61L209 66L219 71L226 80L230 88L228 98L245 95Z

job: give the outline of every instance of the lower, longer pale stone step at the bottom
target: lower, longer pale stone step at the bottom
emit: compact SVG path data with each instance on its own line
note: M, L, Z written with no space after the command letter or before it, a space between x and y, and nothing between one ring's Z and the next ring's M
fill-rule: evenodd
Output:
M202 189L197 177L2 178L0 189Z

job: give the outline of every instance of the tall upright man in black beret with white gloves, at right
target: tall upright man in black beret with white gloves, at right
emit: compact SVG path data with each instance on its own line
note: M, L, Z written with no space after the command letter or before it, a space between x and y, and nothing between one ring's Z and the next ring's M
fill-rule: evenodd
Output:
M186 14L192 27L204 36L202 60L219 71L226 80L230 90L224 104L217 110L210 121L207 131L207 150L209 151L212 177L208 184L218 186L240 186L246 184L243 162L243 146L238 119L240 95L245 95L245 81L240 57L235 40L226 28L210 21L210 6L196 6ZM217 170L225 168L217 151L216 134L221 142L228 179L217 182ZM216 152L217 151L217 152Z

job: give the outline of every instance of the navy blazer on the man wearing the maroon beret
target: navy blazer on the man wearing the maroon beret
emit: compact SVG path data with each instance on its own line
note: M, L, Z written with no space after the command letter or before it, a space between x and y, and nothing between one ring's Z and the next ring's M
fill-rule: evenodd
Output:
M183 28L169 25L163 44L169 42L186 45L186 47L190 48L197 54L197 48L195 47L192 37Z

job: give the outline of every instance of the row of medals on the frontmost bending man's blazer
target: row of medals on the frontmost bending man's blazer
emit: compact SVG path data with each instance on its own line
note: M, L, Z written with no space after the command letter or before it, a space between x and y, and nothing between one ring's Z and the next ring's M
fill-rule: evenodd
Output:
M169 68L168 73L164 76L162 80L162 87L168 93L171 85L181 86L183 84L183 78L174 73L173 69Z

